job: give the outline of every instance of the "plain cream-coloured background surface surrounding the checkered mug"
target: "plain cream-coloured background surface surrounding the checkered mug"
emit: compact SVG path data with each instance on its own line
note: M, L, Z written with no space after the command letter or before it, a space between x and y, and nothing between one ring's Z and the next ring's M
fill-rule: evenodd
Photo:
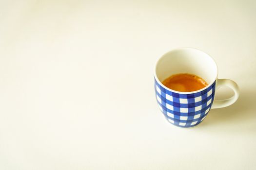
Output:
M177 47L241 90L189 129L154 95ZM255 170L255 99L255 0L0 1L0 170Z

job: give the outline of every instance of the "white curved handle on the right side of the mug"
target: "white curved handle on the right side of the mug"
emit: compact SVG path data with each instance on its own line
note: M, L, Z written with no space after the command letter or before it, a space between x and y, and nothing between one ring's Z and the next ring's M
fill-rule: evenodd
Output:
M239 87L236 84L236 82L229 80L229 79L217 79L217 84L216 84L216 90L220 88L221 86L226 86L231 88L234 91L234 96L232 96L229 99L224 99L224 100L214 100L214 103L212 105L212 109L217 109L217 108L222 108L222 107L227 107L234 102L239 97Z

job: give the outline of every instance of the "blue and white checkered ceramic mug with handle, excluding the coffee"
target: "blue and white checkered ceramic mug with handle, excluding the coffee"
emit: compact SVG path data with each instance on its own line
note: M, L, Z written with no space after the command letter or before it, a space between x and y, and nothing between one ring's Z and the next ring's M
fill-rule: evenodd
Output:
M208 85L197 91L179 92L161 83L178 73L195 74ZM218 69L213 58L197 49L180 48L160 57L154 73L155 91L158 106L165 118L179 127L192 127L205 119L211 108L226 107L236 102L238 85L229 79L217 79L217 75ZM234 96L226 100L214 100L215 91L220 86L233 89Z

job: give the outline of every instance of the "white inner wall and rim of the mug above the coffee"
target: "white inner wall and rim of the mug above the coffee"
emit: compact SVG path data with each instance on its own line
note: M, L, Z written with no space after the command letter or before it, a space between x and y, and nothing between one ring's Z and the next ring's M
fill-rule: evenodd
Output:
M217 79L218 71L217 65L212 57L203 51L193 48L180 48L169 51L159 58L155 68L155 78L160 85L162 85L161 82L164 79L179 73L195 74L203 78L208 83L208 86L210 86ZM177 92L167 87L165 88ZM205 88L197 91L202 91ZM197 91L177 93L189 94Z

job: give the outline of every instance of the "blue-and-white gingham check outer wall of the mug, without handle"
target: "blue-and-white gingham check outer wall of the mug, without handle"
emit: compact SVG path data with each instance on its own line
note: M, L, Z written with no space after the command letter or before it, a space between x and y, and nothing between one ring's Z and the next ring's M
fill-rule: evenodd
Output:
M158 106L165 118L179 127L199 124L208 114L214 101L216 81L207 89L191 94L179 94L165 89L155 79Z

